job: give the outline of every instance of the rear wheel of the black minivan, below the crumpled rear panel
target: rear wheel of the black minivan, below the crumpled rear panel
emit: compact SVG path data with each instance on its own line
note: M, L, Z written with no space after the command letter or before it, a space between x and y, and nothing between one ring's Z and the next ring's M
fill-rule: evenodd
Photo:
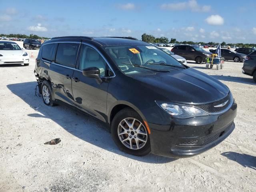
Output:
M44 104L47 106L56 106L54 100L52 99L52 86L48 81L44 80L44 82L42 82L41 92Z

